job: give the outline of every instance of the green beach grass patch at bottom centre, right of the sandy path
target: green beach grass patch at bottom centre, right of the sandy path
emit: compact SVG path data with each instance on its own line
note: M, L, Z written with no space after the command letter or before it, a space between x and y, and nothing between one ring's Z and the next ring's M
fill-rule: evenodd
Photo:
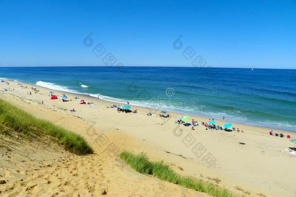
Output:
M214 197L236 197L229 190L214 185L211 182L191 177L181 176L165 164L164 161L152 162L148 160L145 153L138 155L123 151L119 157L129 164L134 170L142 174L152 175L159 179L181 185L183 187L203 192Z

